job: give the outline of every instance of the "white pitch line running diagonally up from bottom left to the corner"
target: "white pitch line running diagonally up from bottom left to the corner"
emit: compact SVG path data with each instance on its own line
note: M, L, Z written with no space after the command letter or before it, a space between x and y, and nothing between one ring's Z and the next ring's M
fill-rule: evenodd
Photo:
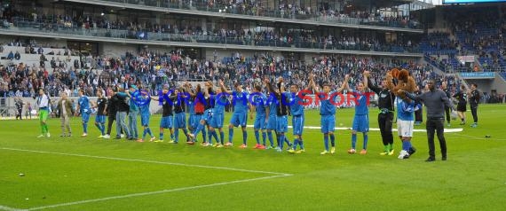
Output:
M246 183L246 182L257 181L257 180L272 179L272 178L283 177L283 176L289 176L289 175L264 176L264 177L258 177L258 178L252 178L252 179L235 180L235 181L231 181L231 182L223 182L223 183L217 183L217 184L202 184L202 185L197 185L197 186L192 186L192 187L176 188L176 189L169 189L169 190L163 190L163 191L139 192L139 193L133 193L133 194L123 195L123 196L113 196L113 197L107 197L107 198L101 198L101 199L88 199L88 200L80 200L80 201L75 201L75 202L56 204L56 205L50 205L50 206L44 206L44 207L34 207L34 208L29 208L28 210L39 210L39 209L46 209L46 208L53 208L53 207L65 207L65 206L79 205L79 204L85 204L85 203L91 203L91 202L99 202L99 201L104 201L104 200L125 199L125 198L131 198L131 197L147 196L147 195L161 194L161 193L174 192L174 191L187 191L187 190L214 187L214 186L226 185L226 184L239 184L239 183Z

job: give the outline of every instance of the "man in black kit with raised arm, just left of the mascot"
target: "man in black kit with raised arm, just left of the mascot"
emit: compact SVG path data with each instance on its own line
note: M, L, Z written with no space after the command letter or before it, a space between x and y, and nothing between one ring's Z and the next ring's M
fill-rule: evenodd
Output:
M381 155L392 155L393 154L393 135L391 134L391 122L393 121L393 102L395 95L391 92L393 82L387 82L386 79L382 82L382 87L379 88L368 82L369 72L364 72L365 86L370 90L373 90L378 95L378 108L380 109L378 114L378 124L381 131L381 137L383 140L384 150Z

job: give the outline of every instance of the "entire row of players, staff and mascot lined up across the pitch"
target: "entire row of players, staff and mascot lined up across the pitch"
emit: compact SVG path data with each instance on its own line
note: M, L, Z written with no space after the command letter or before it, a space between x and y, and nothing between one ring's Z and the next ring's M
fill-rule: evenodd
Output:
M383 79L381 87L368 82L370 76L368 71L364 71L363 80L358 82L356 90L352 90L349 84L349 75L345 75L341 87L331 90L329 84L323 84L322 89L314 82L314 75L310 74L308 85L301 89L298 85L292 84L289 90L285 90L285 84L282 77L277 82L265 80L263 86L257 84L253 92L248 93L242 89L240 83L234 84L233 90L227 90L223 81L218 82L217 89L212 82L206 82L202 88L198 84L195 88L191 84L185 83L175 90L169 90L164 86L158 97L149 96L147 91L138 89L131 85L129 90L118 88L113 91L108 98L104 97L104 90L98 90L98 99L91 102L90 99L79 91L79 99L76 111L73 111L72 104L67 99L67 94L63 92L58 102L58 109L61 119L62 134L60 137L70 137L71 129L69 126L69 117L74 113L75 116L81 115L83 121L83 135L88 136L88 121L90 119L91 108L97 109L95 125L100 130L99 138L110 138L111 128L116 121L116 139L121 139L123 134L129 140L144 142L146 135L149 135L150 142L163 142L164 129L170 130L170 143L178 144L179 129L183 131L188 145L194 145L197 142L196 137L202 132L202 145L214 147L230 147L233 145L233 128L241 127L242 144L241 148L247 148L248 116L253 119L255 115L254 132L257 144L255 149L275 149L282 152L284 144L288 145L288 152L304 152L304 106L310 105L312 98L307 94L314 93L315 101L320 102L320 128L323 134L324 151L320 154L336 152L336 137L334 135L336 126L336 106L344 102L344 91L347 100L355 102L355 114L352 123L352 147L349 153L356 153L357 133L363 135L363 145L360 154L366 154L368 148L368 130L369 116L368 104L371 92L378 95L378 123L382 135L384 150L381 155L393 155L393 134L391 131L393 113L397 106L397 128L398 135L402 142L402 150L399 152L399 159L407 159L416 152L415 147L411 145L414 129L414 113L421 108L421 103L427 107L427 135L429 142L430 157L426 161L435 160L434 135L437 133L439 144L441 146L442 160L447 160L447 146L444 132L444 113L445 106L454 110L453 104L449 101L447 94L439 89L435 89L434 81L427 84L428 90L420 95L406 93L404 97L399 98L392 90L394 81L388 82L388 77ZM397 82L395 82L397 83ZM472 96L478 95L476 85L470 93ZM471 88L472 89L472 88ZM399 90L401 92L402 90ZM475 93L475 91L477 93ZM405 92L405 91L404 91ZM459 93L457 93L459 94ZM465 93L463 93L465 95ZM475 97L472 97L473 99ZM229 101L229 99L231 99ZM459 98L457 110L464 123L463 112L465 112L465 101L462 105L462 96ZM478 97L476 97L478 98ZM479 99L479 98L478 98ZM50 99L39 90L39 97L36 99L39 107L39 119L42 134L39 137L50 137L47 126L47 117L49 113ZM157 100L162 106L162 120L160 122L160 136L156 140L152 130L149 128L150 121L150 100ZM228 125L228 141L225 143L224 113L225 106L232 104L233 115ZM395 106L394 106L395 105ZM189 119L186 127L186 106L189 110ZM474 113L476 113L474 107ZM473 104L471 103L471 111ZM250 112L250 115L249 115ZM144 128L142 137L138 135L137 116L140 113L141 125ZM292 116L293 142L287 138L289 115ZM108 116L106 129L106 116ZM126 119L129 119L127 125ZM478 120L475 119L475 123ZM276 145L274 145L273 131L275 134ZM217 135L219 132L219 137ZM261 134L261 139L260 139ZM216 144L213 145L213 139ZM268 145L266 141L269 141ZM329 145L330 142L330 145ZM298 147L298 149L297 149Z

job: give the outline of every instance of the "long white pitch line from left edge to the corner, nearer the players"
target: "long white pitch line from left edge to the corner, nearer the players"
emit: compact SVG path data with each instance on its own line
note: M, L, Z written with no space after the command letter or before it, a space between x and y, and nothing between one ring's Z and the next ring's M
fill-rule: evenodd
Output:
M213 167L213 166L203 166L203 165L185 164L185 163L177 163L177 162L163 162L163 161L155 161L155 160L125 159L125 158L95 156L95 155L87 155L87 154L74 154L74 153L65 153L65 152L46 152L46 151L24 150L24 149L5 148L5 147L2 147L0 149L2 149L2 150L10 150L10 151L19 151L19 152L36 152L36 153L47 153L47 154L59 154L59 155L67 155L67 156L75 156L75 157L83 157L83 158L95 158L95 159L106 159L106 160L123 160L123 161L133 161L133 162L146 162L146 163L173 165L173 166L181 166L181 167L213 168L213 169L220 169L220 170L241 171L241 172L249 172L249 173L261 173L261 174L269 174L269 175L277 175L277 176L292 176L290 174L280 173L280 172L272 172L272 171L259 171L259 170L249 170L249 169L241 169L241 168L228 168L228 167Z

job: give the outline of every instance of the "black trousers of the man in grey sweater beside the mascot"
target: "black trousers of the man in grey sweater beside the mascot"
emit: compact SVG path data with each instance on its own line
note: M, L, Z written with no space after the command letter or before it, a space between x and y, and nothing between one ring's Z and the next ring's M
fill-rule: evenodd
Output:
M434 132L438 134L439 146L441 147L441 155L443 158L447 157L447 141L445 140L445 119L441 118L428 118L426 129L427 139L429 142L429 156L436 157L434 146Z

